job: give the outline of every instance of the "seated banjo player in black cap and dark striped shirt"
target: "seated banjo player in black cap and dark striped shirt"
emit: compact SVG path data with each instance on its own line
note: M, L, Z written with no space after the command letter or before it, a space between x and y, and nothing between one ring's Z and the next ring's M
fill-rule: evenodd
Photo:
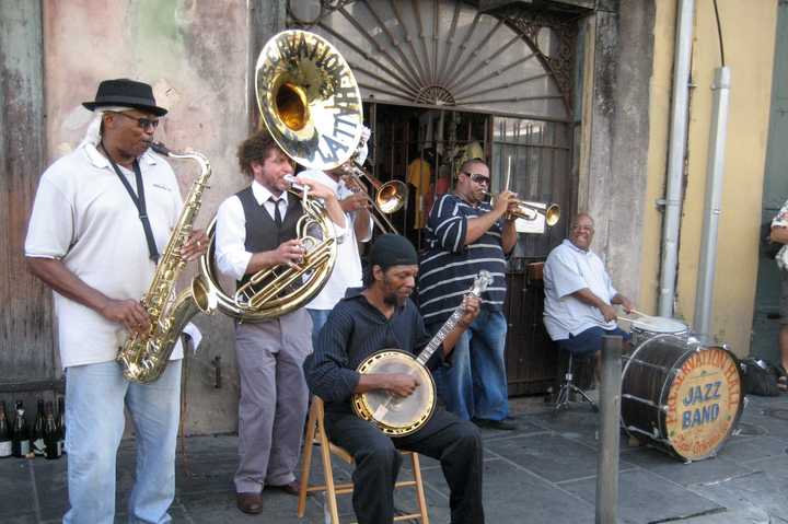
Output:
M354 414L351 397L367 393L393 394L390 403L407 399L420 388L409 373L360 373L359 364L386 348L416 354L429 336L418 308L409 295L416 286L416 249L403 236L385 234L370 251L369 268L362 290L348 290L328 316L317 338L314 353L304 362L306 382L313 394L325 401L325 429L335 444L354 456L356 470L352 503L360 524L385 524L394 517L394 482L407 450L437 458L451 488L451 522L484 523L482 506L482 440L478 429L442 408L415 432L389 436L380 421L368 421ZM442 362L457 338L478 314L478 299L467 296L448 325L442 351L427 361L427 368ZM451 328L451 330L449 330ZM428 347L434 347L434 341ZM427 375L429 379L429 375ZM434 395L429 398L434 400ZM381 409L375 410L379 415ZM383 409L385 411L385 409ZM375 417L376 418L376 417Z

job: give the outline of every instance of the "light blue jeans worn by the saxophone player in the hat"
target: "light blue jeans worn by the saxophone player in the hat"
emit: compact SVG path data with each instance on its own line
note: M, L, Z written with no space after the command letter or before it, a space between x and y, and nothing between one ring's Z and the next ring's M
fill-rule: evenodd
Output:
M181 411L181 361L151 384L123 377L117 362L66 370L66 447L70 509L65 524L112 524L115 463L124 433L124 406L135 422L137 468L129 522L171 522L175 498L175 443Z

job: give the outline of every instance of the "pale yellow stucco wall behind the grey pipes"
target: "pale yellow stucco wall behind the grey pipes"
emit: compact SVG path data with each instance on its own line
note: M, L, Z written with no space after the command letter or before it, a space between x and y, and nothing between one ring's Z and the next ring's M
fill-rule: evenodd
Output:
M777 0L718 1L726 62L731 68L722 213L711 330L739 356L750 350L757 276L757 236L768 130ZM641 303L656 311L676 2L657 2L654 73L649 113L649 183L644 216ZM706 189L711 81L720 54L710 0L696 1L686 188L681 222L676 316L692 323Z

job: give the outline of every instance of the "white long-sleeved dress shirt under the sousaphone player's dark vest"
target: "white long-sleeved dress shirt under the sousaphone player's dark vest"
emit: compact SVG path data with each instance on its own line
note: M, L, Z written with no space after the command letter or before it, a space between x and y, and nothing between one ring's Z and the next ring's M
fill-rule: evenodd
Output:
M252 181L252 195L258 205L263 206L275 217L274 202L270 201L273 194L257 181ZM285 220L288 210L288 199L292 198L288 191L280 195L279 214ZM345 229L332 222L334 234L341 237ZM217 211L216 226L216 263L219 271L235 280L241 280L246 275L246 268L252 259L251 253L246 251L246 216L243 205L237 195L224 200Z

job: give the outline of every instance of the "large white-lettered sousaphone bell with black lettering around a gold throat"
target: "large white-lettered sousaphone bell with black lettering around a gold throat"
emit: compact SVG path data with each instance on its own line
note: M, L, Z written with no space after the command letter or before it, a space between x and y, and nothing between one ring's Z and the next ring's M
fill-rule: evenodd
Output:
M283 31L257 57L255 91L260 118L297 163L333 170L361 139L361 94L350 67L325 38Z

